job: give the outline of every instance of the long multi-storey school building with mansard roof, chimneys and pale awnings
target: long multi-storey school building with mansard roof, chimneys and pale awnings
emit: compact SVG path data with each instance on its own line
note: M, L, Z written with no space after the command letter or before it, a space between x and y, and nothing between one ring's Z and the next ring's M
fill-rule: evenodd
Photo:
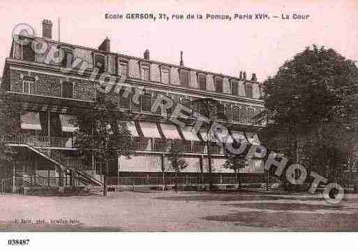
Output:
M191 182L199 173L207 173L205 136L200 132L188 133L197 120L195 112L200 113L196 105L200 100L216 102L216 120L230 132L245 131L250 141L260 143L257 131L264 124L253 124L252 118L264 110L264 103L255 74L247 78L246 72L237 77L211 73L184 66L182 59L179 65L156 62L150 59L149 50L144 52L143 58L122 55L110 50L109 38L98 49L54 41L50 21L45 20L43 26L43 37L14 37L3 69L1 89L6 91L6 99L22 103L27 110L19 119L24 132L21 140L7 139L14 145L25 144L27 158L23 166L30 171L20 173L29 177L37 173L38 177L45 176L50 184L50 176L68 175L66 165L72 163L70 171L76 172L79 168L83 176L87 174L94 180L103 178L102 164L96 159L86 166L70 157L70 152L75 151L75 128L69 118L81 116L88 106L98 102L98 85L105 81L114 83L105 98L116 104L119 113L126 114L128 128L137 144L135 156L111 164L112 185L156 183L163 170L170 177L172 170L166 155L167 144L172 140L181 140L186 146L183 158L188 167L181 171L183 182ZM99 73L95 74L96 71ZM123 96L124 89L113 91L116 85L131 88L128 98ZM139 104L130 99L135 89L142 90ZM158 96L191 110L185 128L173 124L169 120L170 111L162 106L153 110ZM233 171L223 168L225 149L214 138L211 152L216 182L225 182L225 179L230 182ZM54 153L64 162L54 159ZM242 177L260 176L261 165L259 160L252 159L241 171ZM138 180L130 181L133 177Z

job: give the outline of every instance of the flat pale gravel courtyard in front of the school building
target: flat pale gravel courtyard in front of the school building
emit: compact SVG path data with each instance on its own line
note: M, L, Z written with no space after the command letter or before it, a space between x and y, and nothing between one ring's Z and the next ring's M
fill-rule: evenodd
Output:
M1 194L0 212L0 231L358 230L358 194L335 206L319 195L274 192Z

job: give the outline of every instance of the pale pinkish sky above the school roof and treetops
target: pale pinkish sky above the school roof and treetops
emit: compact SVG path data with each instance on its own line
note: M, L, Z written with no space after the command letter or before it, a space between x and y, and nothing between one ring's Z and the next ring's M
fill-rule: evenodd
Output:
M106 20L106 13L165 13L204 15L203 20ZM266 13L269 20L206 20L205 15ZM309 15L293 20L294 13ZM290 15L290 20L281 15ZM53 38L98 48L108 37L111 50L184 65L204 71L239 76L256 73L262 81L274 76L286 60L306 46L334 48L344 57L358 60L358 0L346 1L1 1L0 68L10 52L11 34L19 23L33 27L42 36L41 21L52 20ZM1 73L0 73L1 74Z

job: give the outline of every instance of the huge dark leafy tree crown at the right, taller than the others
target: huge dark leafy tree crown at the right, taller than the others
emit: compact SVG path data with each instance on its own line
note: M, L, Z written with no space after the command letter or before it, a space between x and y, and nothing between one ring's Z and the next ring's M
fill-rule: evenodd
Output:
M357 141L358 69L333 49L313 45L264 82L270 119L267 147L335 179Z

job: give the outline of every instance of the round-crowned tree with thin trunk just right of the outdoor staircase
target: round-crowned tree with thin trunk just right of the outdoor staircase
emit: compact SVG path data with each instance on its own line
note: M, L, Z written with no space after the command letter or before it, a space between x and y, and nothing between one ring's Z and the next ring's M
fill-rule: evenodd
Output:
M105 163L104 196L107 195L109 163L134 154L133 137L126 122L120 121L121 113L112 101L98 102L88 113L78 117L75 147L78 155L85 159L94 155L98 162Z

